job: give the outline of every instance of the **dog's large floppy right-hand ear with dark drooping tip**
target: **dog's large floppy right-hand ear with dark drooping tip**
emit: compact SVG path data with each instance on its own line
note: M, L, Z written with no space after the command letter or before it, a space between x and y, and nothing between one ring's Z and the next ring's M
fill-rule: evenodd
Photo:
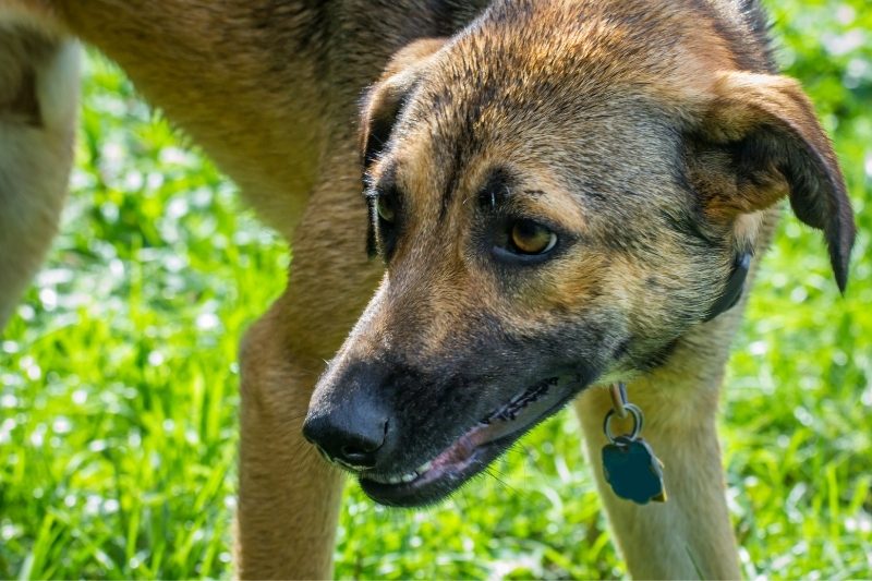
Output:
M764 209L788 195L797 217L824 231L844 292L853 214L833 147L799 83L722 73L690 142L689 174L711 218Z

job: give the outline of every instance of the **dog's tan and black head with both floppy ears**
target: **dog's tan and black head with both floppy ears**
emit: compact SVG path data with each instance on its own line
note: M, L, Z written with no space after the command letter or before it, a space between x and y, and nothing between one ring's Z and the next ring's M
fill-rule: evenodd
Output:
M662 364L784 196L845 287L850 207L798 85L673 3L592 4L498 3L365 99L387 271L304 433L379 501L437 500L585 386Z

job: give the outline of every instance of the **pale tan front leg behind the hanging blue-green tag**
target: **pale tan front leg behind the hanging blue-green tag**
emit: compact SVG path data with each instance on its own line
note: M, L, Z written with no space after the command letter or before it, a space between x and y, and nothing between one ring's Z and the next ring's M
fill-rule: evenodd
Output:
M693 344L693 343L689 343ZM679 349L679 365L628 386L629 399L645 416L642 436L663 461L665 504L644 506L615 496L603 479L601 450L606 445L603 419L611 408L607 390L588 390L576 402L584 429L588 458L608 512L611 529L637 579L738 579L736 541L726 505L715 413L723 346L713 361L701 362L693 349ZM699 344L695 347L699 349ZM615 433L619 432L615 424Z

